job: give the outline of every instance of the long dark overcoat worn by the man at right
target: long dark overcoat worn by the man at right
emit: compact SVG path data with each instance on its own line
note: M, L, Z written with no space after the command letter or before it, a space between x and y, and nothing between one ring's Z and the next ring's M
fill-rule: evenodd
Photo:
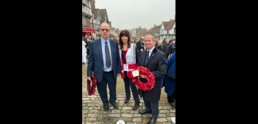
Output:
M164 52L161 52L157 50L157 48L154 48L152 50L152 53L150 54L150 58L148 59L148 62L146 65L144 65L145 56L146 56L147 50L143 50L141 52L139 62L137 63L138 66L144 66L152 74L155 76L155 86L152 88L152 90L149 91L142 91L138 89L138 93L141 95L142 92L144 92L144 97L146 101L159 101L160 94L161 94L161 78L167 74L167 62L166 62L166 54ZM146 79L142 79L141 76L139 76L140 81L145 83ZM143 81L144 80L144 81Z

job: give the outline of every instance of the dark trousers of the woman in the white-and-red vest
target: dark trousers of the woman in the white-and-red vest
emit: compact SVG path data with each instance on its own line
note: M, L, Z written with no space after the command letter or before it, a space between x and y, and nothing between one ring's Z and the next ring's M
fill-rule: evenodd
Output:
M137 92L137 87L135 85L135 83L132 82L132 78L129 78L127 76L127 71L124 72L125 77L123 78L123 82L125 83L125 90L126 90L126 98L130 99L130 86L131 86L131 90L132 90L132 96L133 99L135 100L135 105L139 105L140 104L140 99L139 99L139 95Z

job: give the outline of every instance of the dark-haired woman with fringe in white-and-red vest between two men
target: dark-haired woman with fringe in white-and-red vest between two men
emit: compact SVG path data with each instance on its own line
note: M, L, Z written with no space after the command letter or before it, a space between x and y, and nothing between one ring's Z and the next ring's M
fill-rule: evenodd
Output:
M136 44L132 43L130 39L130 32L128 30L122 30L119 34L119 54L121 58L121 79L125 83L126 99L124 103L128 103L130 100L130 87L132 90L132 96L135 101L135 105L132 110L139 108L140 99L137 92L135 83L132 82L132 70L137 68L136 64L139 61L136 49Z

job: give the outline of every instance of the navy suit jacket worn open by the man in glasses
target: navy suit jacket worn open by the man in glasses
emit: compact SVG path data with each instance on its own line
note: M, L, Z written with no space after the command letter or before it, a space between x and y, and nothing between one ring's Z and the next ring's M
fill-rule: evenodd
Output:
M110 41L110 49L112 56L112 68L117 80L117 74L121 74L121 60L119 56L118 43L112 39ZM92 76L92 72L97 79L97 82L101 82L103 76L103 55L101 50L101 39L97 39L90 43L90 56L88 59L87 76Z

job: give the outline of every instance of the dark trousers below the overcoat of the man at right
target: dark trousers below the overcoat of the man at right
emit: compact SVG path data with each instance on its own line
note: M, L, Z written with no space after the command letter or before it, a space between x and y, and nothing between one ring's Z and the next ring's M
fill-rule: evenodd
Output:
M142 92L142 94L146 112L151 111L151 118L157 119L159 117L159 101L146 101L146 99L144 99L144 91Z

